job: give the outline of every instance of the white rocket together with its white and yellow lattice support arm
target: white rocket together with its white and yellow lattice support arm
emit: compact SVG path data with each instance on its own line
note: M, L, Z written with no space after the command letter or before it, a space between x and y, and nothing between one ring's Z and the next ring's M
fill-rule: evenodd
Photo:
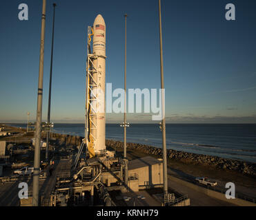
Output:
M92 53L90 41L92 41ZM88 28L88 59L86 80L86 145L90 157L106 152L105 81L106 24L99 14Z

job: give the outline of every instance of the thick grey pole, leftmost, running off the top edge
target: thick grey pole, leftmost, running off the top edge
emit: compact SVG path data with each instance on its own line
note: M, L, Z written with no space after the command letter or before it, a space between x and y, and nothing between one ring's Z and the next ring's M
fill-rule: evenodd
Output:
M41 43L39 61L39 80L37 93L37 124L35 132L35 157L33 173L33 198L32 206L39 206L39 171L40 171L40 145L41 145L41 116L43 98L43 58L44 58L44 35L46 29L46 0L43 0L43 10L41 19Z

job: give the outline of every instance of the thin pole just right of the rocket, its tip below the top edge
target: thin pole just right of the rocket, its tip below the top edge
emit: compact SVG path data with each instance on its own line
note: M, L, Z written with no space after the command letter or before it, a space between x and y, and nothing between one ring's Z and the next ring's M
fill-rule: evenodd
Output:
M127 14L124 14L125 23ZM126 28L125 28L126 29ZM124 50L124 184L128 186L128 159L126 157L126 30L125 30L125 50Z

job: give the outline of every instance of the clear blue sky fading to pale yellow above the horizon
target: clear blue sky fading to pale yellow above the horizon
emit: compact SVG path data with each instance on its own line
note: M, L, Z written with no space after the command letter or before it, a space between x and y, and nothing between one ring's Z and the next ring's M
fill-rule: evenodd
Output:
M127 19L127 87L159 88L158 1L47 1L43 76L46 120L50 76L52 3L57 3L52 77L53 122L83 122L87 27L106 22L106 83L124 87L124 13ZM18 6L28 4L28 21ZM42 1L1 1L0 122L35 120ZM234 3L236 20L226 21ZM256 2L162 0L167 122L256 123ZM121 122L122 114L108 114ZM130 122L152 122L128 114Z

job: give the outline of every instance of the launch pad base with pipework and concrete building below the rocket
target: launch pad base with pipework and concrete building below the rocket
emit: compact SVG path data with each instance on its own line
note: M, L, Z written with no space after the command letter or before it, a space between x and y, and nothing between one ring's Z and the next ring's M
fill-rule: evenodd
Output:
M108 151L107 151L108 152ZM164 198L163 163L154 157L129 161L128 184L120 157L81 158L72 170L73 158L61 158L55 170L56 184L44 206L188 206L188 197ZM58 168L59 167L59 168ZM66 168L66 169L65 169ZM70 173L67 170L71 170ZM155 192L150 193L150 190ZM179 197L179 199L177 199ZM177 202L179 201L179 202ZM179 203L179 204L178 204Z

